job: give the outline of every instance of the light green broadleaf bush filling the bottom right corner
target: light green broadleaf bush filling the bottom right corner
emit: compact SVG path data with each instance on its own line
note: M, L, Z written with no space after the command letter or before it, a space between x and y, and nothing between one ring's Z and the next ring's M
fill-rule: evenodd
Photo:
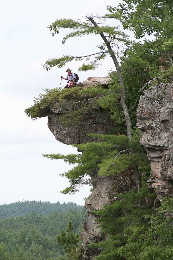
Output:
M166 198L147 225L130 226L127 231L127 244L119 249L127 260L170 260L173 258L173 200Z

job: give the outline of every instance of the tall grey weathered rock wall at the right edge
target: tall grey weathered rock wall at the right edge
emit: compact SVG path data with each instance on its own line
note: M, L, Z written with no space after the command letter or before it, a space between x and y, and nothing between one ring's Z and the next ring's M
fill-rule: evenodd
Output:
M145 90L137 110L140 143L151 161L149 188L156 189L156 203L173 196L173 84L161 83Z

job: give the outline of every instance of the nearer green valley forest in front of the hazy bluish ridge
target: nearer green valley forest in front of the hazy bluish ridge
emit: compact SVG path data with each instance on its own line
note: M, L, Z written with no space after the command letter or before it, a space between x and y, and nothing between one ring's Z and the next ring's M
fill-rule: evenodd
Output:
M75 203L60 205L65 207L69 204L75 205ZM29 205L29 202L26 202L26 205ZM85 212L84 208L83 210L70 209L65 212L54 211L46 217L34 210L25 216L0 218L0 260L62 259L64 250L57 242L57 235L62 229L65 230L69 219L74 224L74 232L79 233L82 228L81 222L86 220Z

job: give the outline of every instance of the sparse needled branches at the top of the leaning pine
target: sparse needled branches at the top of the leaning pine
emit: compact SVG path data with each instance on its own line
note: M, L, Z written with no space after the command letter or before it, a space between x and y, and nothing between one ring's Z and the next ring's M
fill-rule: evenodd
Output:
M65 41L71 37L82 37L84 35L92 35L92 34L106 34L107 35L107 41L109 42L112 53L116 52L117 43L122 42L124 44L129 44L129 36L125 34L125 32L121 31L119 27L117 26L95 26L91 21L90 17L85 16L86 21L73 21L72 19L58 19L55 22L51 23L49 25L50 31L52 31L52 36L59 33L60 29L68 28L72 30L68 34L66 34L62 40L62 43L64 44ZM94 19L98 20L98 23L101 22L101 20L105 21L109 19L108 15L105 15L103 17L92 17ZM79 67L79 70L85 71L90 69L95 69L98 65L100 65L99 61L102 59L105 59L106 56L110 53L108 51L107 46L105 43L102 45L96 46L98 48L97 53L85 55L85 56L71 56L71 55L63 55L62 57L58 59L49 59L46 61L43 65L44 68L50 70L52 67L57 66L57 68L63 67L67 62L75 60L75 61L88 61L91 57L93 57L93 60L90 61L89 64L83 63L81 67Z

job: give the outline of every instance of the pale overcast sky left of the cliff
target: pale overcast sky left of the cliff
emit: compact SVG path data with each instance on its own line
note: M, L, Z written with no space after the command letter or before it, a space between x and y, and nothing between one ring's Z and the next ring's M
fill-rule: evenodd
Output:
M79 63L52 68L47 72L41 64L49 58L62 55L87 55L101 44L98 36L69 39L63 45L65 31L52 37L47 26L60 18L82 18L92 12L103 15L106 6L116 6L119 0L55 1L55 0L6 0L0 10L0 204L24 200L75 202L84 205L89 187L75 195L59 191L68 181L59 174L71 168L61 160L44 158L44 153L77 153L76 149L61 144L47 127L47 118L32 121L24 109L33 104L43 89L59 87L60 76L66 77L71 68L79 81L88 76L106 76L114 69L111 59L102 62L94 71L78 72ZM114 21L116 24L116 21ZM98 43L97 43L98 41ZM61 86L66 82L62 80Z

